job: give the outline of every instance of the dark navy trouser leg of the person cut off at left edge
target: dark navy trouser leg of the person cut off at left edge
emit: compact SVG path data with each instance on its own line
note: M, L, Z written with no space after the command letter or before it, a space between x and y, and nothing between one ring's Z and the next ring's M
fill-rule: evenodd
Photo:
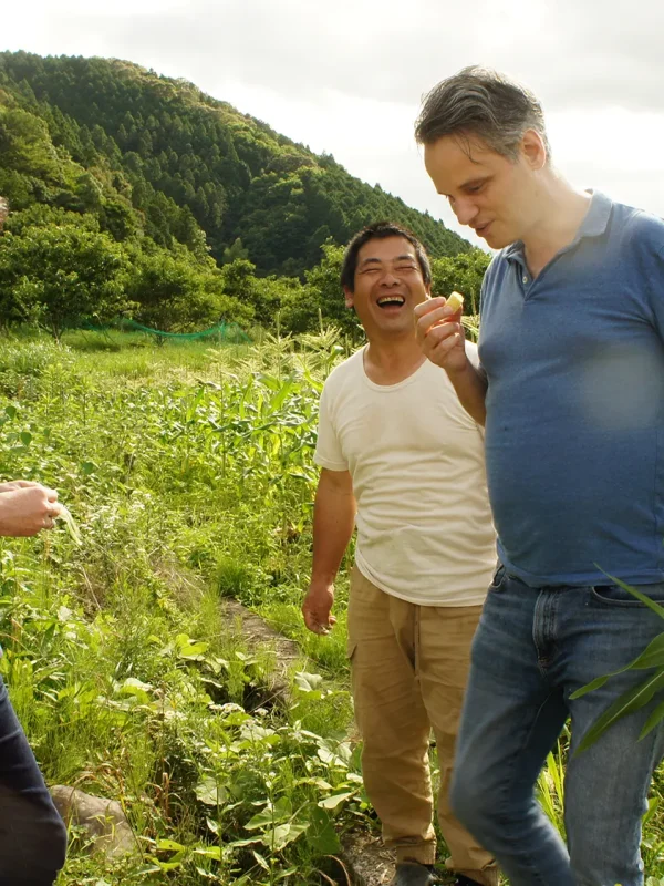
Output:
M0 678L0 886L51 886L66 828Z

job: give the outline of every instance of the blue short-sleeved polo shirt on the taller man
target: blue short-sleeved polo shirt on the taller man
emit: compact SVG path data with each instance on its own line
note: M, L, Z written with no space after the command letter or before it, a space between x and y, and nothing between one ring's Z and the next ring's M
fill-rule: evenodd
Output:
M532 279L520 243L483 286L498 553L533 587L664 581L664 222L593 194ZM596 565L595 565L596 564Z

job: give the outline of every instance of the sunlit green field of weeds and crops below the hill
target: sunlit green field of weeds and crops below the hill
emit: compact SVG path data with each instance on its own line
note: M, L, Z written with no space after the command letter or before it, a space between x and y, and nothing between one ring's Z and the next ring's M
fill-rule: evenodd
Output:
M317 400L344 356L334 331L2 339L2 477L56 487L82 544L64 524L0 540L0 670L49 783L120 800L141 847L106 862L73 828L60 886L343 883L340 836L376 827L347 739L345 578L330 637L299 615ZM299 642L288 704L256 707L273 661L220 596ZM559 824L564 745L540 783ZM663 790L644 832L653 878Z

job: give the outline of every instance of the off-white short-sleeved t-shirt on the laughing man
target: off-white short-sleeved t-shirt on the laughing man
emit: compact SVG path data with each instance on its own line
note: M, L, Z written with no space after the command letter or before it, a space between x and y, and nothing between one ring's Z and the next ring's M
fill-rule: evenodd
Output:
M496 534L483 432L444 370L426 360L398 384L374 384L362 348L325 382L314 461L351 473L370 581L423 606L484 602Z

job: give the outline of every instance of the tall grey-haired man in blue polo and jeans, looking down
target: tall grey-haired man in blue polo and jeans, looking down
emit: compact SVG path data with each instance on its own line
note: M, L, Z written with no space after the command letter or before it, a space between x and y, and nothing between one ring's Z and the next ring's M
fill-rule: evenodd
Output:
M577 190L522 86L465 69L425 99L416 137L461 224L500 251L483 287L479 367L457 317L416 308L427 357L486 425L497 568L475 638L452 802L512 886L642 886L656 704L574 755L644 671L571 698L662 631L606 573L664 601L664 223ZM535 784L568 719L567 846Z

